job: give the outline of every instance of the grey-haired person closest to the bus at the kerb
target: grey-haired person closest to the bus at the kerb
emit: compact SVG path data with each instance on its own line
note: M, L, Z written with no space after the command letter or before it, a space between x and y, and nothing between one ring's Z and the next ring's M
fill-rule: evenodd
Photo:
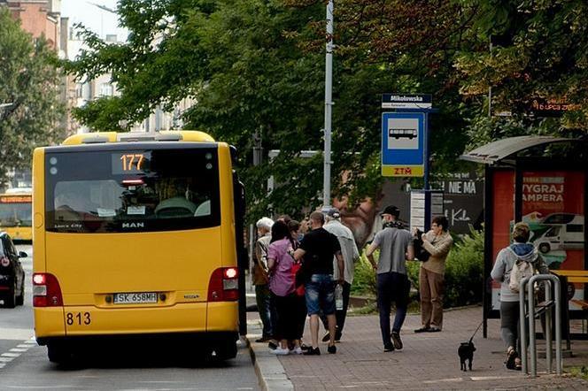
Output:
M253 285L255 285L255 301L258 306L259 318L263 324L261 338L256 342L267 342L272 339L271 309L269 303L269 278L267 276L267 248L272 238L271 229L274 221L261 218L255 223L259 239L255 242L255 264L253 265Z

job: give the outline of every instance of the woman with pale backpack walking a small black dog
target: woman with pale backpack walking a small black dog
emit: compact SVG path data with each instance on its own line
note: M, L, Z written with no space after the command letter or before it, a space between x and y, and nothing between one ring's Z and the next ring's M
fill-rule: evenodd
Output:
M528 243L530 228L526 223L516 223L513 227L514 243L501 249L491 271L491 278L500 283L500 336L507 347L507 369L521 371L522 363L518 350L521 322L519 318L519 292L515 281L519 271L530 269L546 274L549 269L537 249ZM516 287L516 288L511 288Z

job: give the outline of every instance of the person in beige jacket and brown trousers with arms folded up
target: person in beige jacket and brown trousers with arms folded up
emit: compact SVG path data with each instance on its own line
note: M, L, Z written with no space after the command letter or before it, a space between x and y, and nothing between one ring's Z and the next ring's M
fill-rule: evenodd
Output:
M445 289L445 259L453 246L445 216L436 216L428 233L422 234L422 248L430 256L419 269L422 326L414 333L435 333L443 329L443 293Z

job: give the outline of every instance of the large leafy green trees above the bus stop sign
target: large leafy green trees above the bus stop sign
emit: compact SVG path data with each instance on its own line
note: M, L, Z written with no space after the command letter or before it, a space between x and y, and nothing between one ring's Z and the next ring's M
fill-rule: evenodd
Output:
M577 65L561 68L561 80L569 83L567 96L584 104L576 90L585 88L586 50L582 50L586 37L580 35L586 24L580 22L587 13L578 15L582 6L575 11L566 5L579 2L522 1L521 16L514 2L507 0L337 1L334 196L351 196L352 203L378 196L383 92L433 94L439 108L431 121L433 173L459 166L456 157L468 143L557 131L562 124L559 119L486 118L488 87L495 92L492 103L506 107L529 96L525 88L530 87L524 78L515 78L525 74L517 65L521 59L511 56L513 70L505 73L503 64L496 61L503 57L500 50L489 51L489 37L505 29L519 36L553 27L558 32L553 37L545 33L522 45L528 50L525 56L533 58L527 61L533 72L527 73L547 72L541 63L545 50L538 49L541 40L546 40L545 47L560 50L552 58L564 53L567 57L562 58L577 58ZM541 7L552 13L543 15ZM322 149L324 1L120 0L118 11L121 25L131 32L128 42L106 44L84 31L90 50L66 66L78 77L112 72L122 95L89 104L78 118L95 129L118 128L120 119L140 120L158 104L170 109L190 96L197 104L184 113L185 127L205 130L239 149L239 171L252 216L270 206L275 212L296 216L302 206L321 203L321 155L301 159L297 154ZM539 14L543 16L536 18ZM576 29L573 39L563 36L571 27L557 29L566 23ZM560 39L567 46L558 49ZM558 85L554 74L541 76L536 90L549 83ZM497 79L501 75L506 76ZM511 84L514 88L505 88ZM576 125L581 124L575 115ZM253 167L256 132L266 151L282 153L271 163ZM265 183L270 175L277 187L267 196Z

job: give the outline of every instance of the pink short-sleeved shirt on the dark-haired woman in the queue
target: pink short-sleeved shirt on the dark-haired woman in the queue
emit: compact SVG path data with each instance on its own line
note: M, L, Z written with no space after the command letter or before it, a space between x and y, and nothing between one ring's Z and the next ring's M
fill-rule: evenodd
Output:
M269 275L269 290L278 296L290 295L294 292L294 274L292 265L294 258L288 254L292 243L288 239L281 239L269 244L267 259L274 259L274 270Z

